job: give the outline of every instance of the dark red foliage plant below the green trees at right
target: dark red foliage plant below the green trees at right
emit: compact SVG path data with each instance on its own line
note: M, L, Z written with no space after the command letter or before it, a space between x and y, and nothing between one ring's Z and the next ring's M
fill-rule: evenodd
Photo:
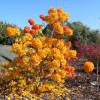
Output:
M87 56L88 58L100 58L100 44L82 44L80 41L75 43L78 56Z

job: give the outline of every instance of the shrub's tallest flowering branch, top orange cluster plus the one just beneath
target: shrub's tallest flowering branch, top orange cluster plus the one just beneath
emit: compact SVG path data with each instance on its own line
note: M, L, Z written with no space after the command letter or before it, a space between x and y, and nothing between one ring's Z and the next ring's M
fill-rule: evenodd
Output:
M63 22L67 21L69 18L69 14L64 12L62 8L58 8L57 10L55 8L50 8L48 15L40 15L40 18L43 21L51 24L53 26L54 32L57 35L73 35L73 30L70 27L62 25Z

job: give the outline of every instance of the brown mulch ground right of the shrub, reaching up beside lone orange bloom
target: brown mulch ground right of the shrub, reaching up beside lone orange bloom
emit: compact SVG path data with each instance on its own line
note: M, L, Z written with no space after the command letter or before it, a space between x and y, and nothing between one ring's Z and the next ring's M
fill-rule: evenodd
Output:
M100 74L99 86L96 82L96 71L87 75L83 69L84 59L72 62L71 64L76 68L76 78L66 79L66 86L71 89L71 100L100 100ZM97 88L98 87L98 88Z

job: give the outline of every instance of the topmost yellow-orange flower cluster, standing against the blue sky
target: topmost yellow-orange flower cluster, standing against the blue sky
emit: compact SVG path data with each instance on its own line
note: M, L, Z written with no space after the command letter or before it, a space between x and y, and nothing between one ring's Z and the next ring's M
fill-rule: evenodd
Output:
M40 15L40 18L43 21L53 24L55 22L67 21L69 18L69 14L64 12L62 8L58 8L57 10L55 8L50 8L48 10L48 15L47 16Z

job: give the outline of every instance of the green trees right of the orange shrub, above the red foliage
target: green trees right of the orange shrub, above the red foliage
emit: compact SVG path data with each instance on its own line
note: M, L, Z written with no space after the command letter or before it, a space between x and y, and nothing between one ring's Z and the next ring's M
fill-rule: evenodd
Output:
M71 41L79 40L81 43L98 43L100 44L100 32L99 30L91 30L89 27L81 22L68 23L73 30L74 35L71 37Z

